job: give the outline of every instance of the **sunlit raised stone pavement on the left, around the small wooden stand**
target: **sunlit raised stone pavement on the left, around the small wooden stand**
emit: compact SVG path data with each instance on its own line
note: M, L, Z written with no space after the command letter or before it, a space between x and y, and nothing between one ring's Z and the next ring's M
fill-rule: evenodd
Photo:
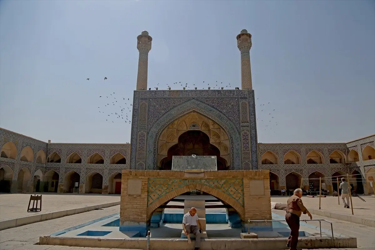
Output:
M39 194L39 193L38 193ZM42 194L42 212L50 213L73 208L120 201L119 195L90 195L90 194ZM33 216L40 213L27 213L30 194L1 194L0 220ZM32 204L32 202L31 202Z

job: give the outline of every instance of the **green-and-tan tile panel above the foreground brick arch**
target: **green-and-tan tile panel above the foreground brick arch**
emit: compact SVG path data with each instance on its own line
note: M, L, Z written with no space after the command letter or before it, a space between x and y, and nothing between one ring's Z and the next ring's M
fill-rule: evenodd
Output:
M199 183L219 190L244 204L242 179L148 179L147 206L167 193L189 184Z

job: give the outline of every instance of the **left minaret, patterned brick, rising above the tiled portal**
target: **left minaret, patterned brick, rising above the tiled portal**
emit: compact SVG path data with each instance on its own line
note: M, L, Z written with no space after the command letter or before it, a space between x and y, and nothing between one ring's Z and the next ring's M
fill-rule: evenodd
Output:
M147 31L137 36L137 49L139 51L138 76L136 90L147 90L148 52L151 50L152 37Z

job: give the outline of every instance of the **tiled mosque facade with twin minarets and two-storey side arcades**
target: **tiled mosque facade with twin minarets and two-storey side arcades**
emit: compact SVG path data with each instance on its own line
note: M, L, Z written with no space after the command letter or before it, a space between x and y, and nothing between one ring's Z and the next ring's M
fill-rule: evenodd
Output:
M343 143L258 143L251 34L237 35L241 88L150 90L152 37L137 37L138 77L130 144L51 143L0 129L0 192L121 192L121 171L171 170L173 156L216 156L218 171L270 170L270 192L337 190L352 175L357 193L374 193L375 135Z

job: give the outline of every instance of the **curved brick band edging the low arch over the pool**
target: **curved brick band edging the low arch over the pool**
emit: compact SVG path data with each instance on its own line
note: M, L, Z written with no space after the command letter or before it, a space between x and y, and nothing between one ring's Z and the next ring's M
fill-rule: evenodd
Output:
M208 193L208 194L216 197L217 199L219 199L221 201L225 201L225 203L227 203L228 205L233 207L234 210L237 211L241 220L245 220L245 209L242 207L241 204L239 204L239 202L237 202L232 197L226 195L225 193L223 193L223 192L221 192L217 189L214 189L212 187L201 184L201 183L193 183L193 184L186 185L184 187L180 187L180 188L175 189L175 190L173 190L169 193L166 193L165 195L163 195L162 197L160 197L159 199L154 201L152 204L150 204L147 207L147 212L146 212L147 220L151 219L152 214L154 213L156 208L158 208L160 205L163 205L165 202L170 201L171 199L175 198L178 195L181 195L183 193L189 192L189 191L194 190L194 189L203 191L205 193Z

